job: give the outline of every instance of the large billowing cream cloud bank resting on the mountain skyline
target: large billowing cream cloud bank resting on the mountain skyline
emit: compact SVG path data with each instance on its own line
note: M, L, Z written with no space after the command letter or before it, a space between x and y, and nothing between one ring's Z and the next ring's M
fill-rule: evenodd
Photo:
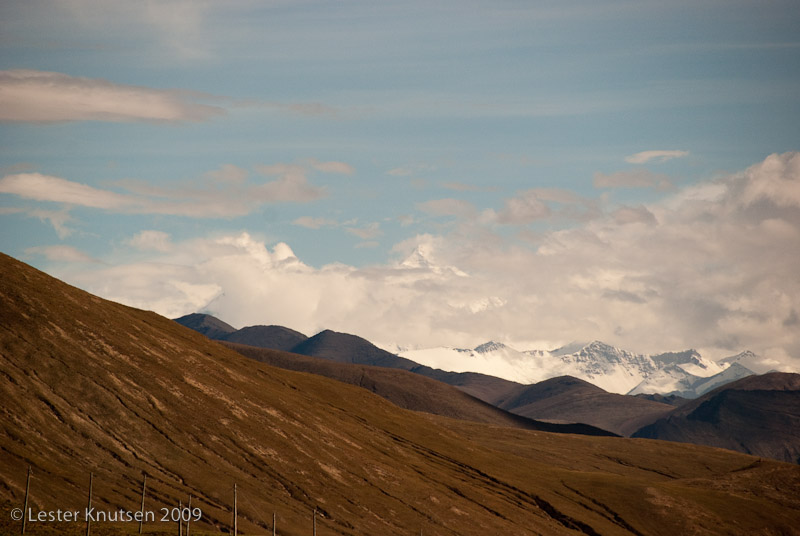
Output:
M382 265L314 268L247 233L185 242L150 233L134 238L150 248L136 263L66 275L170 317L208 311L239 327L327 328L384 344L601 339L640 352L797 359L800 333L787 326L800 310L798 193L800 153L775 154L662 202L539 233L534 247L502 238L497 221L472 222L470 232L404 240ZM498 219L524 226L544 213L538 203L565 195L523 192ZM421 209L462 210L449 201Z

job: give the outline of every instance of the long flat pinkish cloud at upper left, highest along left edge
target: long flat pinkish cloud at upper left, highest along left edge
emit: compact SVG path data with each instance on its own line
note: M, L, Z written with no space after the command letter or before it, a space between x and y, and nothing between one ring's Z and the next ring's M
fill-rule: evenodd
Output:
M208 95L62 73L0 71L0 121L204 121L224 113Z

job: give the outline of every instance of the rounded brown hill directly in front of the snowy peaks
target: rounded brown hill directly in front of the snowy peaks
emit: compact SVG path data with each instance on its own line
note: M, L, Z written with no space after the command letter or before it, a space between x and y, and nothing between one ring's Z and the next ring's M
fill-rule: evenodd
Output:
M620 435L630 435L674 409L660 402L608 393L572 376L526 385L495 402L532 419L584 422Z

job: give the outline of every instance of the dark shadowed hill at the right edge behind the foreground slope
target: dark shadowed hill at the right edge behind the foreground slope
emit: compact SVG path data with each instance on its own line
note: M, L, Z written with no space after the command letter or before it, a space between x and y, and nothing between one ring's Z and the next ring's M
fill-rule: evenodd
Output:
M800 463L800 374L773 372L729 383L678 407L634 437Z

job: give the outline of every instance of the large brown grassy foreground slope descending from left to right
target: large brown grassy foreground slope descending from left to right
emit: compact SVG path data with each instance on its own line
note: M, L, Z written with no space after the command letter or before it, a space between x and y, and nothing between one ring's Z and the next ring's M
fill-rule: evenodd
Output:
M399 409L247 359L0 256L0 501L138 510L191 493L199 529L322 534L796 534L800 467L695 445ZM146 527L169 531L175 527ZM40 526L41 527L41 526ZM18 533L7 511L0 530ZM51 534L82 534L72 524ZM101 534L103 527L94 527ZM93 534L95 534L93 529Z

